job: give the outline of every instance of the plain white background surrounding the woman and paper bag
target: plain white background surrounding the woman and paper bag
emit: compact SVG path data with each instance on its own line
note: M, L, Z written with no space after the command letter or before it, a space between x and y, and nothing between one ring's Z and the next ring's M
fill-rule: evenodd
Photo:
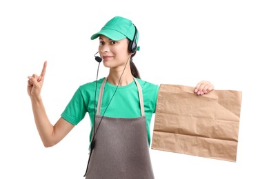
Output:
M134 62L155 84L243 92L237 162L150 150L156 178L260 178L258 1L1 1L0 178L83 178L89 118L45 148L34 125L27 76L48 61L42 96L54 124L79 85L94 81L98 40L112 17L140 32ZM106 76L101 66L99 77ZM152 125L153 127L153 125ZM152 128L151 128L152 131Z

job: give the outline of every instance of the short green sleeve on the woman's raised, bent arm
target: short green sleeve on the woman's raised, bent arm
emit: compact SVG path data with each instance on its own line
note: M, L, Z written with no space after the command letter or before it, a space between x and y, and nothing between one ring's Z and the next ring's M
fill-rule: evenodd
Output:
M79 87L64 109L61 117L72 125L77 125L85 117L86 112L86 104L81 92L81 88Z

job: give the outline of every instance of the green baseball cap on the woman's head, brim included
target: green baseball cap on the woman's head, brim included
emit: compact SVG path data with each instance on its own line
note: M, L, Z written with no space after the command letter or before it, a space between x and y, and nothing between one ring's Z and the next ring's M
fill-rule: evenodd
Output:
M103 28L91 36L91 40L97 39L100 35L107 36L113 41L120 41L128 38L132 41L134 39L135 27L132 21L123 17L114 17L108 21ZM138 43L139 32L137 32L136 43ZM138 48L139 49L139 48Z

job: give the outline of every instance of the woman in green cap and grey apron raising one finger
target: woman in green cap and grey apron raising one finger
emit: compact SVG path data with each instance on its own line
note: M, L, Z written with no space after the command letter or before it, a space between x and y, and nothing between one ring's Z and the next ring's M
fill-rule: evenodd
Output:
M101 31L96 60L110 68L106 78L81 85L53 126L41 100L47 63L40 76L28 77L34 120L45 147L59 143L88 112L91 120L90 158L86 178L154 178L149 156L150 120L156 111L159 86L142 81L132 62L139 33L132 21L110 19ZM194 88L197 95L213 89L208 81Z

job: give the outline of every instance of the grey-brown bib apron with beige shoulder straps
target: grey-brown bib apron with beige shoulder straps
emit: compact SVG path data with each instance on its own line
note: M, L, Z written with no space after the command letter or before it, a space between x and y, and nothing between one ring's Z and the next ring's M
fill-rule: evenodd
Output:
M100 87L95 117L97 133L86 178L152 179L154 174L150 161L141 86L134 78L139 92L141 116L137 118L110 118L100 114L106 80L105 78Z

